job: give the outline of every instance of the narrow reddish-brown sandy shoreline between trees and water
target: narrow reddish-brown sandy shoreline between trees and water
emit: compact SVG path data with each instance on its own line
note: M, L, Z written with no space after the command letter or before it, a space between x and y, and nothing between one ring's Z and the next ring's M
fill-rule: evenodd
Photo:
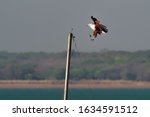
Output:
M70 81L70 88L150 88L150 82L124 80ZM0 80L0 88L64 88L62 80Z

